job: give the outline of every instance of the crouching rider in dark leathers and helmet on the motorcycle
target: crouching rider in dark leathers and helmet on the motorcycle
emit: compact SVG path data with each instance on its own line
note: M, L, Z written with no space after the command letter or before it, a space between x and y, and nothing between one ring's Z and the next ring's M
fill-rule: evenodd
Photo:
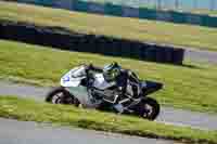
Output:
M93 65L88 66L88 70L102 73L104 79L107 82L116 83L118 91L120 92L120 96L128 95L130 99L136 99L139 95L138 86L133 86L132 83L139 83L137 76L129 69L123 69L117 63L112 63L103 68L95 67ZM129 84L131 86L132 92L128 91ZM113 95L115 96L115 95ZM117 108L122 112L122 106L118 105L118 102L115 102Z

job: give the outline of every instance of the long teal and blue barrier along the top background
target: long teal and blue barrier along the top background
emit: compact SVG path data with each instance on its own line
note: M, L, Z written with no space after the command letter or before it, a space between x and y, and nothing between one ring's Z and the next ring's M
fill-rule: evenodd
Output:
M72 11L115 15L123 17L138 17L153 21L164 21L177 24L217 27L217 16L207 14L192 14L190 12L166 11L148 8L132 8L122 4L100 3L87 0L14 0L21 3L60 8Z

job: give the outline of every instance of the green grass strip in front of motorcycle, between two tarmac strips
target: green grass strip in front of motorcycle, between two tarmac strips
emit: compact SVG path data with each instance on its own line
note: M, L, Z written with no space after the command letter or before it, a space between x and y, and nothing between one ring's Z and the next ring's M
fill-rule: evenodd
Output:
M40 110L36 110L40 109ZM161 138L189 143L217 143L216 131L167 126L97 110L66 105L52 105L13 96L0 96L0 117L26 121L52 122L100 131L125 133L148 138Z

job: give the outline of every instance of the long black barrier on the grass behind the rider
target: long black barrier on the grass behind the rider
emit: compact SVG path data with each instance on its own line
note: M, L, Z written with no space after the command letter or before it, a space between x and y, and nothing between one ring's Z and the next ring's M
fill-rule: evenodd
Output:
M23 41L63 50L171 64L182 64L183 61L182 49L105 36L76 34L60 27L39 27L21 23L0 22L0 39Z

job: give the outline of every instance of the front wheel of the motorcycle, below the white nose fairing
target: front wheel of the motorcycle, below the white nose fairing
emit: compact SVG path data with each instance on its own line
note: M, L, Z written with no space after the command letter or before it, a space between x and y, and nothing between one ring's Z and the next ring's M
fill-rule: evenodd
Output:
M72 104L75 106L79 105L78 100L75 99L63 87L58 87L51 90L46 96L46 102L52 103L52 104Z

